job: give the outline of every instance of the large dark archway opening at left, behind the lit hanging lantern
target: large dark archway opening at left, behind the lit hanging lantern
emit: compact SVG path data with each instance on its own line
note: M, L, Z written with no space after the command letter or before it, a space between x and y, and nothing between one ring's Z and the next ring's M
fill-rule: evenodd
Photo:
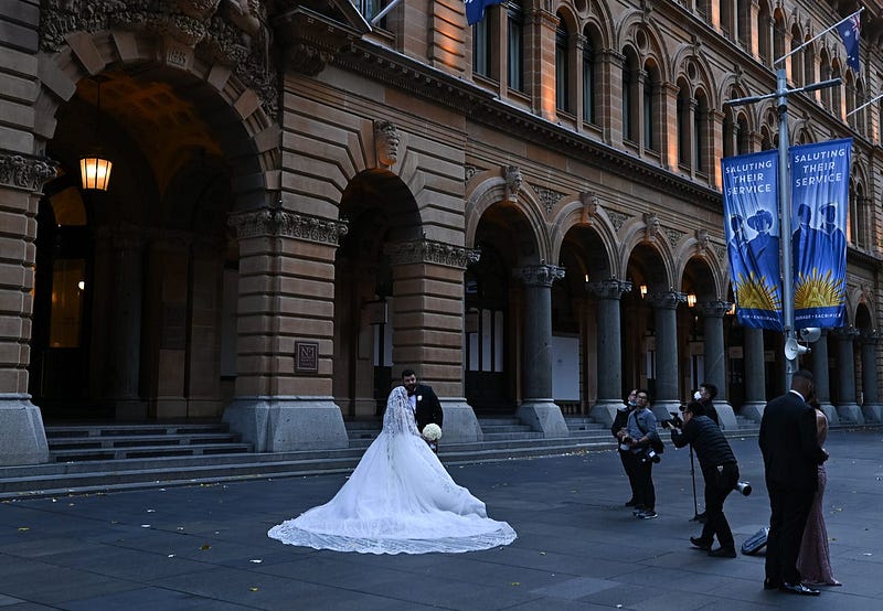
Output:
M248 148L241 118L199 77L140 63L81 78L54 119L34 403L49 419L220 418L237 351L238 251L226 221L236 175L254 169L236 163ZM114 163L107 191L78 176L96 141Z

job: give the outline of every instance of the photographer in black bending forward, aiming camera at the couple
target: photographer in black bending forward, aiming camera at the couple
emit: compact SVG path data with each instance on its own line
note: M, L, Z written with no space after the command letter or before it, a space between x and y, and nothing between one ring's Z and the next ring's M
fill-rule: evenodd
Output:
M702 414L701 404L690 401L682 410L683 420L675 416L664 421L663 426L671 429L671 441L677 448L688 443L693 446L705 480L708 518L702 526L702 535L690 537L690 543L714 558L735 558L736 545L724 515L724 501L738 483L736 457L717 425L708 416L698 415ZM712 549L715 536L721 547Z

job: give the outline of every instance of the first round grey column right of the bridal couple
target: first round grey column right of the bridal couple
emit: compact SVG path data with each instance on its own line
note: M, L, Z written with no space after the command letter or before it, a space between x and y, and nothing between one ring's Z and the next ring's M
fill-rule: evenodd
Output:
M564 268L532 265L517 271L524 291L522 396L518 417L545 437L567 437L567 424L552 400L552 282Z

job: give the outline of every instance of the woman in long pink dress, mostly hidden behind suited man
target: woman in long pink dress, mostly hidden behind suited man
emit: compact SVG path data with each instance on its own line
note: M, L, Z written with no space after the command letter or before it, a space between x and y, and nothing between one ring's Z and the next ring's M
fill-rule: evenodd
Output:
M816 411L819 446L828 438L828 419L821 410ZM819 465L819 487L812 499L809 510L807 526L800 543L800 554L797 557L797 570L804 583L813 586L840 586L831 571L831 554L828 548L828 528L825 525L825 486L828 483L828 473L825 464Z

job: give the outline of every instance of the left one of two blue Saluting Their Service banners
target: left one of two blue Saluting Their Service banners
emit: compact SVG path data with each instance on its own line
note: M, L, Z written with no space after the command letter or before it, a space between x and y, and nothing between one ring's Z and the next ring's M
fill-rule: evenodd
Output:
M725 158L721 169L738 322L781 331L778 151Z

